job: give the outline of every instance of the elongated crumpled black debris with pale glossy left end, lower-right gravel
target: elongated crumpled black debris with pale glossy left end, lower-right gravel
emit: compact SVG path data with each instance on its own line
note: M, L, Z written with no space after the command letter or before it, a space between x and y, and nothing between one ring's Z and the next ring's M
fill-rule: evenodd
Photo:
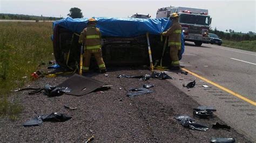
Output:
M195 123L194 119L187 115L180 115L174 117L180 121L180 124L184 127L189 127L191 130L207 131L209 128L205 125Z

